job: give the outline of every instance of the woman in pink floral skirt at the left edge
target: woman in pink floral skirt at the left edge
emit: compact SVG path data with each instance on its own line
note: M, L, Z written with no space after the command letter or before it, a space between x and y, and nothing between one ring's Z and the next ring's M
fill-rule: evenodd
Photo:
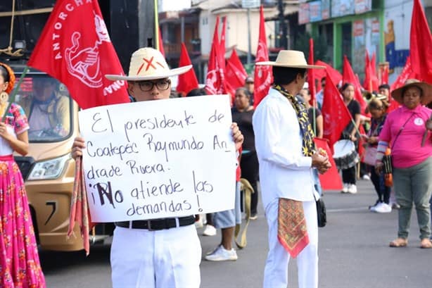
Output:
M27 202L23 176L13 160L13 152L28 151L29 129L23 108L8 107L8 93L15 76L0 63L0 288L46 287L39 263L32 217Z

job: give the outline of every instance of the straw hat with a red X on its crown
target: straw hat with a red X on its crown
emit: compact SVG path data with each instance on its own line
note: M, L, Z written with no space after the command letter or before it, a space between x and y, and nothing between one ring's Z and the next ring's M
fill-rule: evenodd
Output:
M160 51L151 47L138 49L132 54L129 75L105 75L109 80L141 81L172 77L186 73L192 65L170 69Z

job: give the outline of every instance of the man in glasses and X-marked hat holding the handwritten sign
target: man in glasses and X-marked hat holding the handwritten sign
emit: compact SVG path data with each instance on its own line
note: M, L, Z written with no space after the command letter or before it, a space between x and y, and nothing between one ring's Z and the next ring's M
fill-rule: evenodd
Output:
M170 69L160 51L146 47L132 54L129 75L106 77L127 80L136 101L151 101L169 99L170 77L191 68ZM243 134L236 123L231 130L239 149ZM75 138L72 157L82 156L84 148L84 139ZM201 244L194 223L193 215L115 223L110 255L113 287L199 287Z

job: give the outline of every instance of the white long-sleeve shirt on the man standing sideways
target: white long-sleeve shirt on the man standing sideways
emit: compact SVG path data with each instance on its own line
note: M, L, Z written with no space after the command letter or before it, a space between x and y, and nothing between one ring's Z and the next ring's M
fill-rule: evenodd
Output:
M253 113L253 131L264 207L277 198L315 200L312 158L303 156L296 111L276 89L269 90Z

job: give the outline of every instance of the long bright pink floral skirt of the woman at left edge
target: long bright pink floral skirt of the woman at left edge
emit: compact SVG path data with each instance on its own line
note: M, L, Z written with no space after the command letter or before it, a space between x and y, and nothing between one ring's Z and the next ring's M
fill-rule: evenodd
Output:
M13 156L0 156L0 288L46 287L23 176Z

